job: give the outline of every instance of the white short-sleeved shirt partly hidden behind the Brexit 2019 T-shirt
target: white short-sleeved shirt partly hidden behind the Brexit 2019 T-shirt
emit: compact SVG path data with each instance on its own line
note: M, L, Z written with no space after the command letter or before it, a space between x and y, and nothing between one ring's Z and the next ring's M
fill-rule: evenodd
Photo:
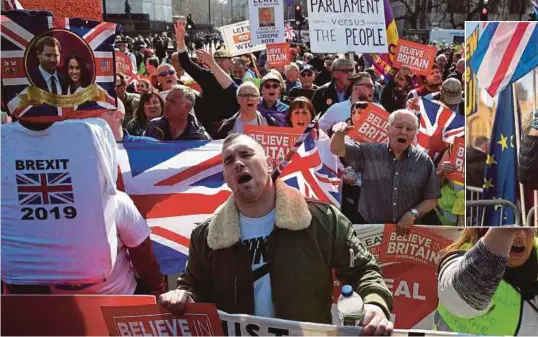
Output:
M102 294L132 295L136 289L135 272L129 260L127 248L141 244L151 233L146 219L142 217L131 198L124 192L116 195L118 209L116 227L118 228L118 255L116 263L107 280L80 290L62 290L52 285L53 294Z

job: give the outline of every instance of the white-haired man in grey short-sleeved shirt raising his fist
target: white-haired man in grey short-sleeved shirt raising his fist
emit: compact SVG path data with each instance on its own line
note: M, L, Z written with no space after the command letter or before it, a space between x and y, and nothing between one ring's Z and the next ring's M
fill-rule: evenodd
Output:
M412 145L418 119L409 110L389 117L389 142L359 143L346 134L353 127L333 127L331 151L362 173L359 213L367 223L397 223L405 232L437 204L441 196L435 166L424 151Z

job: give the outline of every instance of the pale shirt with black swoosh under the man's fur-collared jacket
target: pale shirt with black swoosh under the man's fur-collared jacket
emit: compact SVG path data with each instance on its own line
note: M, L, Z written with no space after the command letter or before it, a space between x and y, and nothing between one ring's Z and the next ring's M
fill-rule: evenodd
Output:
M275 225L275 210L260 218L239 216L241 241L249 248L254 274L254 314L275 317L271 292L271 278L267 265L267 237ZM257 272L256 272L257 271Z

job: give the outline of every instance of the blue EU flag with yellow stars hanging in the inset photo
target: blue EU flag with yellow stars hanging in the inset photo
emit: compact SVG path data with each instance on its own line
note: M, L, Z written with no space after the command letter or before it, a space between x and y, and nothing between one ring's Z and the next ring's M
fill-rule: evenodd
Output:
M517 151L512 86L500 92L486 159L484 199L504 199L517 205ZM519 104L518 104L519 114ZM502 210L502 214L501 214ZM484 226L513 225L512 208L495 206L486 210Z

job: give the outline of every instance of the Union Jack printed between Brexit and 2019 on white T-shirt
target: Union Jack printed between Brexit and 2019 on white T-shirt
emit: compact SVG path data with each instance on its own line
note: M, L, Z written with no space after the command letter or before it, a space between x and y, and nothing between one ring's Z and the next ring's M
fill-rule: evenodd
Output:
M61 205L75 201L71 175L60 173L19 173L17 192L21 205Z

